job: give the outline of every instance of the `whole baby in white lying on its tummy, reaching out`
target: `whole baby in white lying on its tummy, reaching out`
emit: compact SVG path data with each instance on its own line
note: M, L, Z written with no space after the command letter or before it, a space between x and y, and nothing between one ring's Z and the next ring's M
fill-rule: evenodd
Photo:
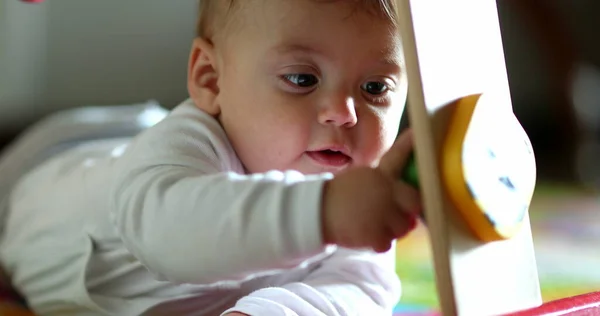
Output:
M393 0L203 0L190 98L14 187L0 259L40 315L391 315L407 80Z

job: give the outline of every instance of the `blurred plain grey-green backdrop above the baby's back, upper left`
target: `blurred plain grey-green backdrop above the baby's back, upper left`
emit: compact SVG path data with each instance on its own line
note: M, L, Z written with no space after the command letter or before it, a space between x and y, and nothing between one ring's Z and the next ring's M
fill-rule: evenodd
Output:
M196 0L0 0L0 139L67 108L172 108L196 17Z

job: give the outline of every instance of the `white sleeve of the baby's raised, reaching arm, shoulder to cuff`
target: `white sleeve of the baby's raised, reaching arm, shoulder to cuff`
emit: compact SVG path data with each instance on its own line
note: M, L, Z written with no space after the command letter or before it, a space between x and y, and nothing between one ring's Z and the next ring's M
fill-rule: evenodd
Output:
M326 256L320 204L330 175L231 171L223 131L198 115L175 113L115 160L111 220L128 250L159 280L193 284Z

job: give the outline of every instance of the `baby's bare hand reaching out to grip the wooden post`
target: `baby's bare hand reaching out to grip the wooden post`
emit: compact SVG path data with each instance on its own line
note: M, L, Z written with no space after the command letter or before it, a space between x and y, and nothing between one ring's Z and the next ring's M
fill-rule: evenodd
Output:
M346 248L390 249L393 240L417 225L421 199L400 180L412 150L412 133L400 135L377 168L340 173L324 190L322 227L325 243Z

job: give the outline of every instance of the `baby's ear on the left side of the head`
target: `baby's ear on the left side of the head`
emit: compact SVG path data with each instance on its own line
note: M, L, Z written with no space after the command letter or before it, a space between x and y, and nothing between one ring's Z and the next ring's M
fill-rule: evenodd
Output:
M194 39L188 64L188 93L197 107L213 116L221 111L217 104L218 79L213 44L203 38Z

